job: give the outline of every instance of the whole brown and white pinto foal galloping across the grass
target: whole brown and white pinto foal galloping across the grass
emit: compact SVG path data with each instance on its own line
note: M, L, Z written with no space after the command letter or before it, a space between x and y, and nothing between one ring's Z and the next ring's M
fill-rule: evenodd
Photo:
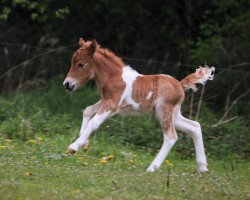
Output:
M177 140L176 130L193 138L198 169L200 172L208 171L200 124L181 115L181 104L185 97L184 89L196 90L196 83L212 80L214 67L200 67L182 81L164 74L141 75L125 66L111 51L101 48L95 40L85 42L80 38L79 45L63 84L69 91L75 91L94 79L101 100L83 111L80 137L69 146L68 153L75 153L88 144L90 134L116 113L155 112L164 140L147 171L153 172L161 166Z

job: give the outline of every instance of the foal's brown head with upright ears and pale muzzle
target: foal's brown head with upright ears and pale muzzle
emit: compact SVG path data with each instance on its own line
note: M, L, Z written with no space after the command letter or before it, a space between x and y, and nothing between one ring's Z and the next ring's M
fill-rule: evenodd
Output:
M94 77L93 56L97 49L97 42L79 40L79 49L73 54L70 70L63 82L69 91L75 91Z

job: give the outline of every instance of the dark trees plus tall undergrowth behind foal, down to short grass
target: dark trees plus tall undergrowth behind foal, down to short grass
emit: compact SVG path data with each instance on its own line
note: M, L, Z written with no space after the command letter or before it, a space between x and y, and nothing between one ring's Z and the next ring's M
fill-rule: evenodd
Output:
M79 110L98 99L94 86L70 96L62 80L79 37L95 38L140 73L181 79L199 65L215 66L215 80L188 92L183 111L201 122L214 157L249 158L249 7L248 0L0 0L1 133L27 139L80 125ZM124 141L159 147L156 122L127 120L110 121L109 134L124 132ZM183 142L176 151L185 155L189 147Z

